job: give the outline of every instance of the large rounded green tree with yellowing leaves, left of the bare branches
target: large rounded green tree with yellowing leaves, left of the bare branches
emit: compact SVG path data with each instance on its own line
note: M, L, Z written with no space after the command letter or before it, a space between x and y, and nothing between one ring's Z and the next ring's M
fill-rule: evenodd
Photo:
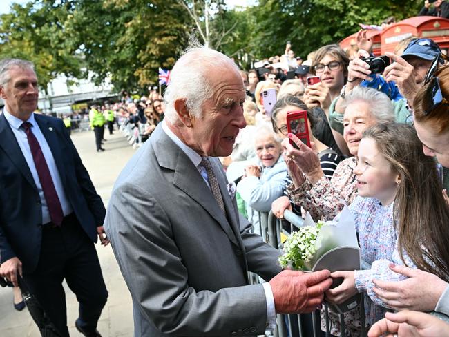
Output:
M173 1L73 3L72 43L97 83L109 75L117 89L143 89L157 81L157 68L171 68L187 45L187 15Z

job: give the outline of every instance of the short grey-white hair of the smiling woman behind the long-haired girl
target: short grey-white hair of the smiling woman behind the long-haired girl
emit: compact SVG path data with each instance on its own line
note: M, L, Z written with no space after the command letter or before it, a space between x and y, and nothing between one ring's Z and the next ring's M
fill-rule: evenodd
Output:
M378 123L394 123L394 106L387 95L373 88L356 86L346 96L345 110L354 102L365 102L370 107L370 113Z

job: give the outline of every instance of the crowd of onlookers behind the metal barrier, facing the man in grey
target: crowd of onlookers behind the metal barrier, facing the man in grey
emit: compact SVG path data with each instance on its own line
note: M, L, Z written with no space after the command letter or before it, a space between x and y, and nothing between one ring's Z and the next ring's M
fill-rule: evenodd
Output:
M449 106L441 99L446 58L431 39L410 38L386 55L393 61L390 66L374 73L363 61L372 56L363 32L358 43L356 57L337 45L323 46L312 53L309 65L287 44L285 55L267 59L249 72L240 70L246 126L235 135L231 153L220 160L235 186L239 212L258 235L260 213L273 211L283 218L289 209L303 217L308 212L316 221L332 220L349 205L361 258L372 267L332 273L343 283L326 291L327 300L339 304L364 293L370 336L387 329L420 334L421 327L435 318L414 311L449 314L449 256L444 243L449 239L444 226L449 207L437 170L438 161L447 165L443 135L448 119L430 118L426 131L418 134L414 128L420 130L422 116L437 115ZM294 78L287 79L291 72ZM320 81L307 83L308 77L316 76ZM276 93L274 106L264 104L267 90ZM173 104L170 98L165 101ZM306 112L311 147L288 131L287 115L300 110ZM180 114L178 108L175 111ZM441 125L439 137L431 123ZM414 311L383 319L391 309ZM340 336L337 314L330 311L329 316L332 336ZM344 316L346 335L360 336L359 309ZM415 317L424 322L418 324ZM325 331L324 313L322 318ZM438 326L441 331L449 327L443 322Z

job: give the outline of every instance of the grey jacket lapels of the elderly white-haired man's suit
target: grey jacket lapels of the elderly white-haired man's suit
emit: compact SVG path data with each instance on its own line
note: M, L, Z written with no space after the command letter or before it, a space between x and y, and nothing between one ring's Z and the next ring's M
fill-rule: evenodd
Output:
M204 182L198 169L193 165L189 157L187 157L184 151L182 151L181 148L179 148L178 145L176 145L170 137L162 131L162 127L156 128L151 137L156 139L155 154L160 166L174 171L173 184L198 202L198 204L200 204L204 210L207 211L218 224L220 224L220 227L225 231L229 240L231 240L237 247L240 247L236 235L233 233L233 229L231 229L231 225L222 213L220 206L218 206L216 200L213 198L211 189L209 189L206 182ZM161 151L161 149L164 149L164 151ZM218 174L217 177L218 176L220 176L220 174ZM221 179L223 180L222 177ZM227 189L223 190L222 188L223 182L220 183L219 181L219 184L221 191L227 191ZM223 200L225 199L229 199L229 196L223 198ZM228 201L225 202L225 207L229 215L231 212L228 211L229 206L227 205L227 202Z

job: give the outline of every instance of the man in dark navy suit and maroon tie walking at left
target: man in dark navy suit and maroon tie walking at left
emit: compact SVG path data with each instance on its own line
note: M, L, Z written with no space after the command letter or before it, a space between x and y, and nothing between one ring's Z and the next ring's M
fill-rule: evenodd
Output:
M33 64L0 61L0 277L35 295L68 336L62 281L79 301L75 322L96 330L108 293L93 242L108 239L106 213L61 119L37 115Z

